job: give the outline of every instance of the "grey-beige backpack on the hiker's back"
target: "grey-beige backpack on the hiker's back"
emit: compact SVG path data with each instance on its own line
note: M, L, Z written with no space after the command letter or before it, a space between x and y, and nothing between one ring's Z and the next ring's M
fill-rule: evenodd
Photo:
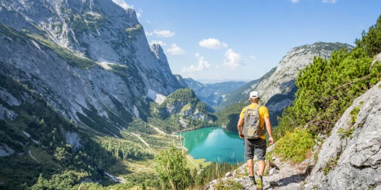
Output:
M254 109L250 109L249 106L246 107L243 117L243 136L247 139L257 139L265 135L265 130L262 129L260 124L259 107L261 107L259 104Z

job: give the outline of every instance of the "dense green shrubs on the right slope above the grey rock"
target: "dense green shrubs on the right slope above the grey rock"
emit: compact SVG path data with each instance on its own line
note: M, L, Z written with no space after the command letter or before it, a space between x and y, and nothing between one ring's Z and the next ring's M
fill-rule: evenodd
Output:
M296 99L292 106L283 110L279 125L274 130L274 138L278 141L275 153L284 158L295 155L297 157L294 161L302 161L303 156L309 151L307 147L313 144L313 136L318 133L330 133L353 100L380 81L381 64L372 64L373 57L370 57L381 52L380 22L381 17L377 24L370 27L369 32L363 32L362 39L356 40L358 46L352 51L334 51L329 60L315 57L309 66L299 72ZM358 110L359 108L355 108L351 112L351 125L356 123ZM279 145L282 144L279 142L300 139L299 135L291 134L304 131L304 128L307 130L300 135L309 140L299 144L303 149L289 149L289 152L283 152L283 148L287 146ZM350 137L353 131L354 129L341 129L339 133L342 137Z

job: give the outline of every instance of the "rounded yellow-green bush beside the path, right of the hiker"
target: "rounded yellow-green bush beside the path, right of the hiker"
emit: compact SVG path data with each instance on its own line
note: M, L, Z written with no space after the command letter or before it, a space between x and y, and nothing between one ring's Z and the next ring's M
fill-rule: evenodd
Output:
M306 129L295 128L293 132L286 132L274 148L275 155L284 160L300 163L307 158L307 153L315 144L313 135Z

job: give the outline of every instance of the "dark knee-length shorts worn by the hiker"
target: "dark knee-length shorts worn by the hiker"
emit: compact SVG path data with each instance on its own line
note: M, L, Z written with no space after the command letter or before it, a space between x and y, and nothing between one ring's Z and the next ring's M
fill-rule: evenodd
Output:
M265 139L245 138L245 140L243 141L243 145L245 146L245 159L252 159L254 157L255 152L259 161L265 161L267 148Z

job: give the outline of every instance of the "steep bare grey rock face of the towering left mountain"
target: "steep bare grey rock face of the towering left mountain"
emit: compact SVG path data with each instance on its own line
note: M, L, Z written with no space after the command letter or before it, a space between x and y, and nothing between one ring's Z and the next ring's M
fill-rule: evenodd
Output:
M78 124L103 120L111 126L103 133L145 118L149 101L182 87L134 10L111 0L2 1L0 34L0 74Z

